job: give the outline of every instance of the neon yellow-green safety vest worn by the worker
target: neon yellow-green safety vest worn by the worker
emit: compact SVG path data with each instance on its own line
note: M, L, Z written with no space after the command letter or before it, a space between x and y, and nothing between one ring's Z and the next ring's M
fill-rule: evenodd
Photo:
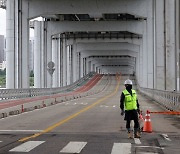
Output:
M128 110L137 110L137 95L136 91L132 90L132 96L131 94L125 89L123 90L125 99L124 99L124 108L126 111Z

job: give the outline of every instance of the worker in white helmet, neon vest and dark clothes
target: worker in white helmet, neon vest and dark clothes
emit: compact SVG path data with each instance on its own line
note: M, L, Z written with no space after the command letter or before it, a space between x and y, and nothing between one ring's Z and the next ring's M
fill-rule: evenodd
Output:
M126 120L126 129L128 131L128 138L133 138L130 123L134 120L134 137L140 138L139 132L139 103L136 95L136 91L132 89L132 81L126 80L124 82L126 89L123 90L120 98L121 115L125 113L124 120Z

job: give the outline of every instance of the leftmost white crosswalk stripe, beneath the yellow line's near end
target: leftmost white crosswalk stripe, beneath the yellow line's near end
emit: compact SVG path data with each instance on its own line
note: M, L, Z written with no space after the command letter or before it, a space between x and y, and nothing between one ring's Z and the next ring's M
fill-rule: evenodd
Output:
M29 152L44 142L45 141L28 141L28 142L25 142L9 151L10 152Z

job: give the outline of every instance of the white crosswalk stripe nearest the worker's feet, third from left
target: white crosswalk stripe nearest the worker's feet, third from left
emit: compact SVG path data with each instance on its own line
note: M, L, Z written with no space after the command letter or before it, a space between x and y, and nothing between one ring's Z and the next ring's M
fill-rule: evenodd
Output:
M131 143L114 143L111 154L130 154Z

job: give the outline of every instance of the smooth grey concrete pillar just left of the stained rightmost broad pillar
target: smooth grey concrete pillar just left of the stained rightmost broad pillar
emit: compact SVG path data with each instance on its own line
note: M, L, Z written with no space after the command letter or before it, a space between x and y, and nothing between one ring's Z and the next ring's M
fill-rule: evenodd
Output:
M165 90L164 0L154 1L155 89Z

